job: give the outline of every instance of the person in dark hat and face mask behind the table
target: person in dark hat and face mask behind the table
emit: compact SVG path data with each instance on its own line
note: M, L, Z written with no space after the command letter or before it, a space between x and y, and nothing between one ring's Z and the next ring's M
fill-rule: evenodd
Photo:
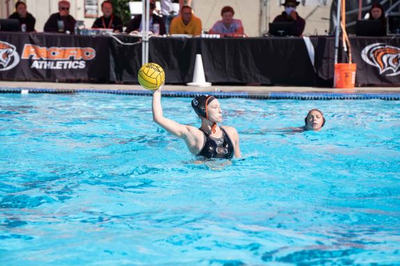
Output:
M300 36L305 28L305 20L298 15L296 7L300 2L296 0L285 0L282 6L285 6L285 11L273 19L273 22L292 22L294 31L293 35Z

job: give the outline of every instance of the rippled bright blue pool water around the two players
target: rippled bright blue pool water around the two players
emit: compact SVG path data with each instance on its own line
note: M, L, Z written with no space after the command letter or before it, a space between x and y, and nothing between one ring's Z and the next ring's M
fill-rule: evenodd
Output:
M244 160L195 160L150 97L0 94L0 265L400 265L399 101L221 105Z

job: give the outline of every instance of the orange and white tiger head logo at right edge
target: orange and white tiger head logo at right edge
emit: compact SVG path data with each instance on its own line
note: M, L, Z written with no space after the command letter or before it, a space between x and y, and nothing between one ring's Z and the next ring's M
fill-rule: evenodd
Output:
M400 48L385 43L368 45L361 52L362 60L367 64L378 67L379 74L396 76L400 74Z

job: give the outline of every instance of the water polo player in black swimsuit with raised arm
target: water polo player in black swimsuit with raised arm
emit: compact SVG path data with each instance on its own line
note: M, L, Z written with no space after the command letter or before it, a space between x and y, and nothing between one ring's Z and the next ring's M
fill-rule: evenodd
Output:
M161 86L162 88L162 86ZM169 133L182 138L195 156L205 158L241 157L239 134L232 126L217 126L223 120L218 99L211 95L200 95L191 101L195 113L201 119L200 128L179 124L163 117L161 88L153 92L153 121Z

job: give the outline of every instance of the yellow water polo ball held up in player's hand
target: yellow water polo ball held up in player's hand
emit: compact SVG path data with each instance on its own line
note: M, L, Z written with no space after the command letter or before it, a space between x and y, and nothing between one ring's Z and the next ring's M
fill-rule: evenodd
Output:
M166 81L166 74L156 63L146 63L139 69L138 81L147 90L157 90Z

